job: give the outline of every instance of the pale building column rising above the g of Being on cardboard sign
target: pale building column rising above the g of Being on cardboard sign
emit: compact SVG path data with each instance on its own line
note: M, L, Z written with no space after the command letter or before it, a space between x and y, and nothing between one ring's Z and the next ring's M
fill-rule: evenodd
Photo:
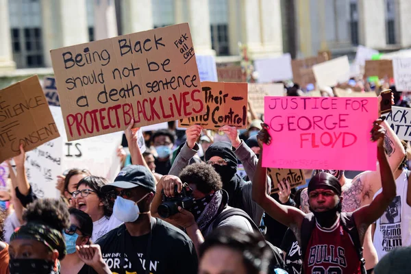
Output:
M95 40L118 36L114 0L94 0Z

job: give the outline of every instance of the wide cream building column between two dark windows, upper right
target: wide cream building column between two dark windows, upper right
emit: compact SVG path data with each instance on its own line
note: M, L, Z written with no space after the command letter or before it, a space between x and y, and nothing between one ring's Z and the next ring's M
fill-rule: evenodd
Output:
M358 0L360 44L373 49L386 47L384 0Z

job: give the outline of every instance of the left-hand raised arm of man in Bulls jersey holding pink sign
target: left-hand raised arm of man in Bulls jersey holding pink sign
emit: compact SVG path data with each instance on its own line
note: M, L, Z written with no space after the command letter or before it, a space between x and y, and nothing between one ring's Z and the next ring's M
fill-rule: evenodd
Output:
M264 124L263 129L260 130L258 133L258 142L262 150L262 142L265 142L267 145L271 143L271 137L266 130L268 125ZM262 153L264 153L262 151ZM262 154L261 153L261 154ZM262 167L262 157L258 160L256 174L253 178L253 190L252 190L252 197L253 201L256 201L273 219L279 221L283 225L288 227L296 226L301 227L301 223L305 214L291 206L284 206L275 199L273 199L270 195L267 194L267 184L266 184L266 177L267 169Z

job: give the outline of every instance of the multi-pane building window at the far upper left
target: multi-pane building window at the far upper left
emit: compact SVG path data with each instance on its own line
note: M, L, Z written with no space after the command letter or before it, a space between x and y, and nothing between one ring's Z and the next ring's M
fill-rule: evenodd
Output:
M44 66L40 1L9 0L9 18L17 69Z

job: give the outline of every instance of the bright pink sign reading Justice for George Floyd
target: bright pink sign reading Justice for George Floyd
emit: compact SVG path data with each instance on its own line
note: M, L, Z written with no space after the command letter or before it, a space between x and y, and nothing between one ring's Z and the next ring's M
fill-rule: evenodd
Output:
M377 97L265 97L273 138L262 165L278 169L375 171L377 143L370 131Z

